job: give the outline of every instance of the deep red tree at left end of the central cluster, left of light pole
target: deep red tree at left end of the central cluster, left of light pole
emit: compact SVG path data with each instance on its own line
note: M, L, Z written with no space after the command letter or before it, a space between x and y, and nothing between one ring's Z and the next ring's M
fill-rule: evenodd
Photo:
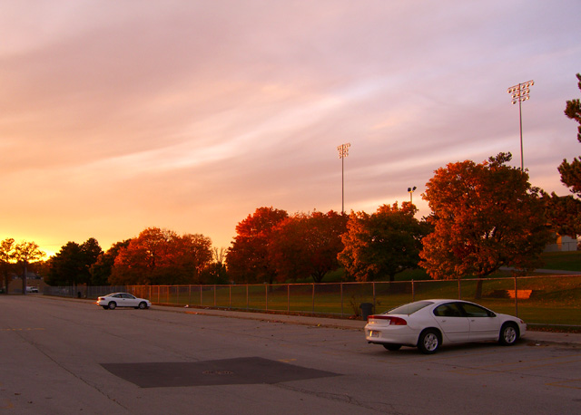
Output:
M269 258L272 231L288 216L285 210L259 207L236 226L236 236L226 253L228 273L234 281L272 284L276 276Z

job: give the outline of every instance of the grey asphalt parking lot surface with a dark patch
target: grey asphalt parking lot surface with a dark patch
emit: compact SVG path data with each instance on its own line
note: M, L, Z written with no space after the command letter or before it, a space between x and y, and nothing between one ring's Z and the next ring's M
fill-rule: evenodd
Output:
M169 311L0 296L0 413L581 410L575 342L483 343L426 356L365 343L360 322Z

